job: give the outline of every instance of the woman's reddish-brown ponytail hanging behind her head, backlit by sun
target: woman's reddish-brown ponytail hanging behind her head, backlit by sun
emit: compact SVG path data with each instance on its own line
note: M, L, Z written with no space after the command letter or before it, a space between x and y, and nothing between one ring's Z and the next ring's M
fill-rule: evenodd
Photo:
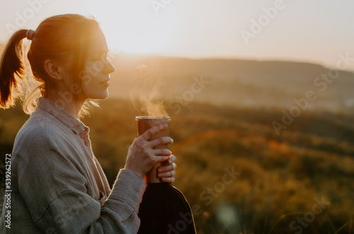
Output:
M18 88L18 78L23 78L25 67L23 65L22 40L27 30L21 29L14 33L5 46L0 59L0 107L12 107L16 97L11 93L12 88ZM17 80L16 80L17 78ZM12 95L11 95L12 94Z

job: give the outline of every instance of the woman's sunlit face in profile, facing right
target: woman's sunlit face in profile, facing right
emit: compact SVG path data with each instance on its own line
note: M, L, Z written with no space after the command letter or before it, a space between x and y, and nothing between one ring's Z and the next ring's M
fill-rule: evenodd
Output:
M108 47L102 31L99 28L93 30L92 37L86 67L81 74L82 92L79 96L84 100L107 98L110 73L115 71L114 66L108 61Z

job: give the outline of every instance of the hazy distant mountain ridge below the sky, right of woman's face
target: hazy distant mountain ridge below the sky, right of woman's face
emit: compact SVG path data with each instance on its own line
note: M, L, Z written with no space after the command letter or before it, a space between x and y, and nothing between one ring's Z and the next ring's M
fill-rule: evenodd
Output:
M195 78L202 77L205 88L193 93L193 100L217 105L284 107L295 105L294 98L306 98L312 91L315 100L310 110L354 112L354 74L331 72L302 62L252 61L241 59L186 59L175 57L114 54L110 95L127 98L130 90L148 80L161 83L161 95L168 100L190 100ZM141 66L142 64L146 66ZM193 77L195 77L193 79ZM199 90L198 90L199 91ZM136 93L136 92L135 92ZM183 98L184 95L184 98Z

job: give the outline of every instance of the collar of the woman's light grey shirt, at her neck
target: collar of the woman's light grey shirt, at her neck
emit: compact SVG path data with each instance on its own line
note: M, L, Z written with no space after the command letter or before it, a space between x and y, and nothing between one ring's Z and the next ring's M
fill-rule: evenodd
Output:
M67 110L64 110L48 98L40 97L38 99L37 107L49 112L50 115L59 119L59 121L72 129L75 134L79 134L84 129L89 131L89 127L87 127L83 122L72 116L69 112L67 112Z

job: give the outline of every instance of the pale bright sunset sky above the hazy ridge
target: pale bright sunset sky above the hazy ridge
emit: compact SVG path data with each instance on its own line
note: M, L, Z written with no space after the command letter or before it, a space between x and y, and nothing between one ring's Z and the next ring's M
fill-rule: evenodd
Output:
M348 53L354 70L353 0L0 0L0 41L62 13L94 16L120 52L332 67Z

